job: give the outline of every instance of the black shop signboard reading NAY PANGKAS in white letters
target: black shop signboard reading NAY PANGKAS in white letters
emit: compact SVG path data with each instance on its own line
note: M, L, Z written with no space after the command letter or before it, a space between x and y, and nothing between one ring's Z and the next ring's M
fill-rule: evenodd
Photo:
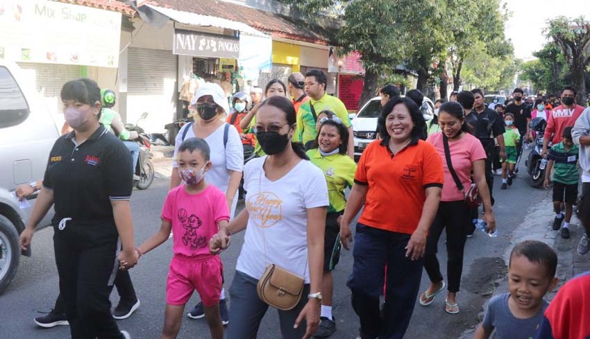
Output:
M205 58L237 59L239 57L239 38L175 29L172 53Z

